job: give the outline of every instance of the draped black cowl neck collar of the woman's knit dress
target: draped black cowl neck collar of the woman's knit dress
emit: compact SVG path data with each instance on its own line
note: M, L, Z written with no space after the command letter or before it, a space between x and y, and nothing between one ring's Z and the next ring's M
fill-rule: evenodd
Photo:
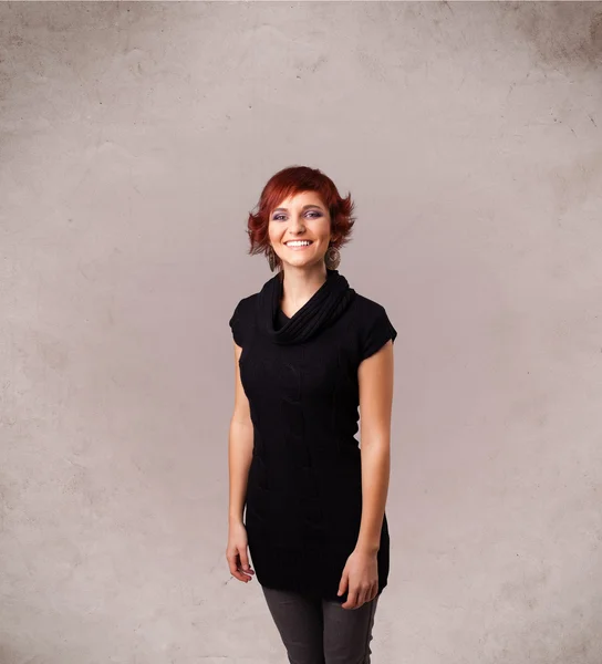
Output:
M261 329L279 344L302 343L331 325L349 307L355 291L338 270L326 268L326 280L284 324L277 329L276 321L283 295L283 274L278 272L268 280L258 298Z

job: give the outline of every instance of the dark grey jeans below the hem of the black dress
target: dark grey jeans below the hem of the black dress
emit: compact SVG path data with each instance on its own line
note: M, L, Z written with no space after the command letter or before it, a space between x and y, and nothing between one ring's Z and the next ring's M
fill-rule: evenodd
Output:
M290 664L370 664L378 596L359 609L261 587Z

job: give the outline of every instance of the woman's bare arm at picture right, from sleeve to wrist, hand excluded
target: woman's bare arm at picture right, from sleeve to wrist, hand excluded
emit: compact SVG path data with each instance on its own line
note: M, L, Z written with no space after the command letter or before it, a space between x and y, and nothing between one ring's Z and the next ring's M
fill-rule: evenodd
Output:
M357 371L362 454L362 521L356 550L376 553L381 543L391 471L393 342L366 357Z

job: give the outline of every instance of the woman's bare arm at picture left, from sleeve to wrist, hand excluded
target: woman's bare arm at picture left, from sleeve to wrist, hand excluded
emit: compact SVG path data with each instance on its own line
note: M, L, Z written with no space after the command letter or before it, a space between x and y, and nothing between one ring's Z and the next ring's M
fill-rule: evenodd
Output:
M253 450L253 425L249 400L240 382L238 361L242 349L235 343L235 409L230 419L228 440L228 468L230 485L230 505L228 520L230 525L242 523L245 496L249 478Z

